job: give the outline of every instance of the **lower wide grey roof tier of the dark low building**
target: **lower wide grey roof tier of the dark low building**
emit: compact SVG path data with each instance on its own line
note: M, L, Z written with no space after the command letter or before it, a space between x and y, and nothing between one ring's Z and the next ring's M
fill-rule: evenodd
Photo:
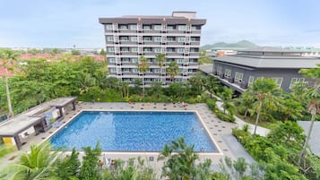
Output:
M222 56L213 57L214 61L238 64L255 68L316 68L320 59L306 56Z

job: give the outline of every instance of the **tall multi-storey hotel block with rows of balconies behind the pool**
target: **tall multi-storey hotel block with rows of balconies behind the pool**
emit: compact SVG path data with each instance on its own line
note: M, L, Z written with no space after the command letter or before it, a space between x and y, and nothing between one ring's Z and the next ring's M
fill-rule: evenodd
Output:
M134 84L144 78L146 86L161 81L168 86L172 81L166 69L176 61L179 73L174 81L187 81L198 70L201 28L205 19L195 19L195 12L173 12L171 16L122 16L99 18L104 26L108 74ZM159 65L156 56L167 57ZM149 69L139 73L141 56L148 59Z

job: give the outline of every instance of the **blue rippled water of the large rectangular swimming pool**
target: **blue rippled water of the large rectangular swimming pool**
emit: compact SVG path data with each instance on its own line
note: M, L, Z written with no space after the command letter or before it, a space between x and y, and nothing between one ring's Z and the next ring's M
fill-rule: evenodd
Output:
M51 138L56 147L94 147L104 151L160 151L165 143L185 137L195 151L217 151L193 112L84 111Z

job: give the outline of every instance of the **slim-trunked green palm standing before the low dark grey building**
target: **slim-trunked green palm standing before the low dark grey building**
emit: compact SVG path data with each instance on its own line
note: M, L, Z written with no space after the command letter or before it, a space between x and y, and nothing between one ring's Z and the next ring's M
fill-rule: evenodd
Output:
M253 95L257 101L255 102L255 111L256 111L256 118L255 118L255 131L256 127L259 123L259 116L262 110L263 105L272 106L274 99L274 93L278 90L278 85L272 79L258 79L255 81L252 87Z

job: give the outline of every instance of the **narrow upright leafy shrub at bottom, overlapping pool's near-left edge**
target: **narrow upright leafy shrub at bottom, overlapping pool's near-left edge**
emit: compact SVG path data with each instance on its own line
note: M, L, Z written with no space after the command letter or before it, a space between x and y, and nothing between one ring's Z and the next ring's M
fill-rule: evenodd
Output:
M101 148L99 142L97 142L96 147L91 150L91 147L82 148L85 152L85 156L82 158L82 167L80 170L79 177L83 180L99 180L102 179L99 173L99 156L101 155Z

